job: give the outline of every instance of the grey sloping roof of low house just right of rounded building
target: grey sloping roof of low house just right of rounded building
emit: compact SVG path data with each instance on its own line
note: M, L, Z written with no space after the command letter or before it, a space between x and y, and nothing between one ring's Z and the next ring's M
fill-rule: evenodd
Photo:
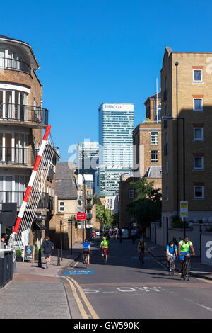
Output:
M55 194L60 199L77 198L77 186L73 179L74 167L73 162L57 162Z

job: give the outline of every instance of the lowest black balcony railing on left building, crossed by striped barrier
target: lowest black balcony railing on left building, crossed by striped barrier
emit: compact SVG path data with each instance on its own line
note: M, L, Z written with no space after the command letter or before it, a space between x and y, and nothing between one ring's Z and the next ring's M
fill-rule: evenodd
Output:
M17 207L20 208L24 196L25 191L0 191L0 203L17 203ZM53 197L48 193L41 193L37 209L53 210Z

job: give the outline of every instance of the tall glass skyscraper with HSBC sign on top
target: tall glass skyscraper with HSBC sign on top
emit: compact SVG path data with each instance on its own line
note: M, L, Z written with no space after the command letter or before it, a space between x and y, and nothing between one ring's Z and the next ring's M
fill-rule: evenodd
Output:
M119 190L122 174L131 173L133 164L134 104L102 103L99 107L100 168L98 184L101 196Z

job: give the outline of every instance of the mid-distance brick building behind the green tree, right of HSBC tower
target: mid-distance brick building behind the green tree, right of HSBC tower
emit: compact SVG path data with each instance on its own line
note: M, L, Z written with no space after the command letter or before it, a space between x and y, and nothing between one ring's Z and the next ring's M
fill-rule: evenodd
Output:
M144 105L146 120L137 125L133 131L133 176L124 176L119 182L119 226L121 227L129 227L134 221L126 211L127 205L135 198L132 181L147 177L149 181L154 181L155 188L161 188L161 94L148 97Z

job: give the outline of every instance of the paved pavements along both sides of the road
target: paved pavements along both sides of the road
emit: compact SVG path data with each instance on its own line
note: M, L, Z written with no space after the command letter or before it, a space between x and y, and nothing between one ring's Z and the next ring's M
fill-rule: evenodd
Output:
M148 254L165 263L165 247L147 240ZM82 244L74 244L71 250L63 251L58 266L57 251L52 253L51 264L45 268L38 261L17 262L13 280L0 288L0 319L71 319L69 296L66 294L63 279L59 276L62 269L74 265L81 254ZM176 261L176 270L180 261ZM191 273L194 277L212 280L212 266L201 264L200 259L192 256Z

